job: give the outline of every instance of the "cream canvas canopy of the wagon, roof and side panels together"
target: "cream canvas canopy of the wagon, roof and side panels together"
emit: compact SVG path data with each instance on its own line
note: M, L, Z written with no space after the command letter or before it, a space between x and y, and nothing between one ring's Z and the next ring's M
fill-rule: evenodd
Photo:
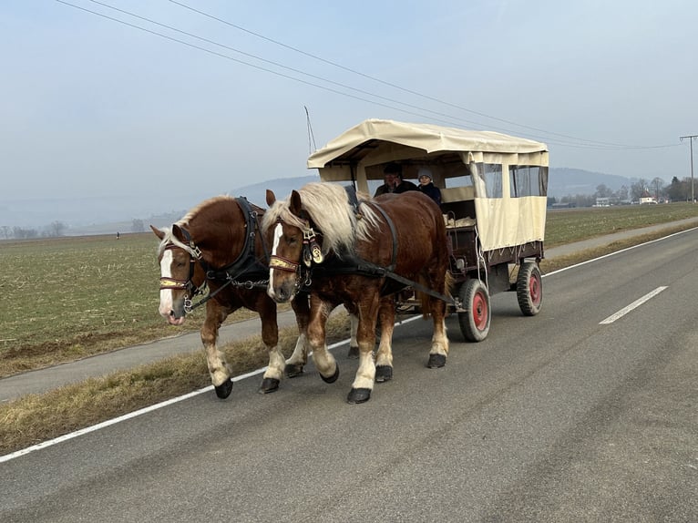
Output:
M477 217L471 218L477 220L484 250L543 240L549 161L544 143L492 131L368 119L315 151L307 165L318 169L323 181L352 181L368 192L368 180L383 179L385 164L393 161L400 163L405 179L430 169L436 186L446 191L451 190L447 179L472 179L462 198L474 200ZM489 166L499 169L494 198L487 193L483 172ZM520 166L537 169L534 195L518 194L512 187Z

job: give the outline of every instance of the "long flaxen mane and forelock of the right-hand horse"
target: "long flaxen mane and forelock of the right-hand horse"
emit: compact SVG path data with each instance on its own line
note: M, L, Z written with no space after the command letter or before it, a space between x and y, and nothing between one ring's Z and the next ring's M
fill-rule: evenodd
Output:
M335 183L311 182L298 190L303 202L303 210L310 216L318 231L323 233L323 253L354 252L356 241L371 238L371 231L378 227L378 215L366 204L371 198L357 193L359 216L350 204L346 190ZM289 200L276 200L270 210L264 213L263 227L267 229L277 220L306 228L298 217L289 210Z

